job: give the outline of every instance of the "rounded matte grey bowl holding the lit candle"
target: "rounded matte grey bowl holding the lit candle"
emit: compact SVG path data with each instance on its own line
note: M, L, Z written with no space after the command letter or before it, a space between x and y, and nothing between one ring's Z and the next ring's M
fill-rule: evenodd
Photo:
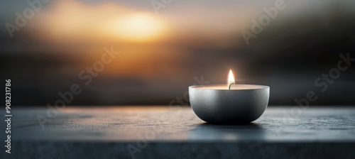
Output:
M237 84L190 86L190 104L195 114L212 124L246 124L258 119L268 106L270 87ZM219 89L220 88L220 89Z

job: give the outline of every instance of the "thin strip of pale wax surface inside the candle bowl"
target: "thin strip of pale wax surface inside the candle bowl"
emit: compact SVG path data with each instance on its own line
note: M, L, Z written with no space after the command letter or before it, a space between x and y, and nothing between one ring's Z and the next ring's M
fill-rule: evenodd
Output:
M204 85L204 86L195 86L197 89L216 89L216 90L228 90L229 85L227 84L216 84L216 85ZM245 89L264 89L268 86L255 85L255 84L232 84L231 90L245 90Z

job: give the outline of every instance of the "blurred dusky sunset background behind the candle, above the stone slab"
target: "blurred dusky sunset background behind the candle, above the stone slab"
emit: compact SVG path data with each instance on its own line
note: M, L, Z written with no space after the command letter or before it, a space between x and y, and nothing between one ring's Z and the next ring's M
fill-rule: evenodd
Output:
M82 92L71 105L168 105L196 78L226 83L229 70L237 83L270 86L269 105L295 105L308 91L318 96L311 105L355 104L355 62L326 91L315 85L339 54L355 58L355 1L285 0L249 45L241 32L275 0L37 0L34 10L28 1L0 1L1 79L11 79L13 105L54 104L72 84ZM80 72L111 46L120 54L85 84Z

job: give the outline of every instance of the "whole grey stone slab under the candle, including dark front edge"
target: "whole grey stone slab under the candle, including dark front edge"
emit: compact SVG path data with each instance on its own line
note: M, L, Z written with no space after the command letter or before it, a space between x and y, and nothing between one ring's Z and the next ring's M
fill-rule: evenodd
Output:
M5 119L4 114L1 111ZM28 158L38 154L47 158L57 150L72 150L69 154L76 157L81 150L80 156L85 156L112 146L115 150L108 152L115 153L107 158L164 158L169 153L176 153L176 158L199 158L198 154L206 152L221 158L248 157L247 150L255 148L269 148L264 152L267 157L277 157L275 152L280 148L285 148L280 155L308 148L303 153L317 157L334 154L322 153L328 149L342 151L345 158L355 156L354 107L269 106L261 118L245 125L207 124L190 107L179 106L67 106L58 112L47 107L13 106L11 114L13 152L26 153ZM1 140L5 139L1 134ZM53 148L55 151L51 151ZM314 148L319 152L314 153ZM213 150L216 152L211 153ZM237 156L233 155L236 150ZM170 155L165 157L175 158ZM67 158L60 153L56 156Z

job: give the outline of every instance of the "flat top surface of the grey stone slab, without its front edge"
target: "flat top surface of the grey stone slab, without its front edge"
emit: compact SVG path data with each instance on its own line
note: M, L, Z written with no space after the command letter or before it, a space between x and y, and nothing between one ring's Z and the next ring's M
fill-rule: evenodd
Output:
M46 116L46 108L13 108L11 135L14 141L355 141L355 108L297 110L269 107L248 125L212 125L190 107L67 107L42 127L37 116Z

